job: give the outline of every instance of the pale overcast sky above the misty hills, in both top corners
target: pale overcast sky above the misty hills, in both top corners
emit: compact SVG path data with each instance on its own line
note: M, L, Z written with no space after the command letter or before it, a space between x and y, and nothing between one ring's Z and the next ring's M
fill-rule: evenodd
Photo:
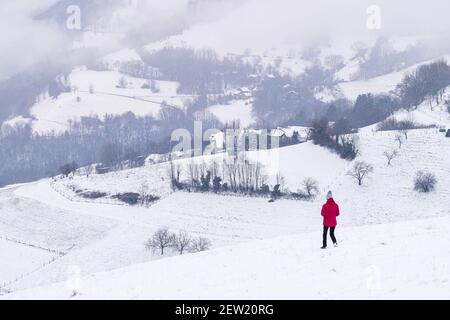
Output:
M158 28L184 20L189 26L184 30L186 39L223 50L307 45L327 38L356 41L381 34L449 40L448 0L206 0L196 14L187 10L189 1L145 0L134 23L148 27L153 21L152 28ZM26 70L69 45L58 27L32 19L54 2L0 1L0 78ZM381 8L379 31L366 27L366 10L373 4Z

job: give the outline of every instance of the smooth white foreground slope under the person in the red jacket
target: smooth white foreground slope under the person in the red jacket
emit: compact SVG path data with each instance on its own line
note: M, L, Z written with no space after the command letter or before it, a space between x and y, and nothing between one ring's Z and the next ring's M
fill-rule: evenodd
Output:
M79 278L75 299L448 299L449 218L251 242ZM436 242L439 239L438 242ZM7 299L70 299L70 282Z

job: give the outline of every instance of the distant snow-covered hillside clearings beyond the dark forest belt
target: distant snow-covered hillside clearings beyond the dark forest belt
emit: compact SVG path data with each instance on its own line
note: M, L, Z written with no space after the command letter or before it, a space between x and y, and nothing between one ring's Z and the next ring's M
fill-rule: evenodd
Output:
M198 29L194 29L194 31L198 32ZM436 60L423 61L400 71L367 80L350 81L353 78L352 75L357 74L361 63L365 61L361 57L355 56L355 51L352 49L353 42L330 43L318 47L317 52L312 51L311 53L308 53L307 48L293 45L256 51L223 51L213 44L200 45L195 41L193 42L190 38L190 32L194 31L191 30L158 40L143 47L119 48L117 51L99 57L98 61L100 61L102 67L106 67L110 71L93 71L86 69L86 67L75 68L66 81L66 84L70 85L71 91L62 93L56 98L49 98L46 93L37 97L37 102L29 106L30 112L27 121L32 122L35 132L61 132L67 129L69 121L77 121L81 117L99 116L102 118L106 114L122 115L127 112L132 112L138 117L147 115L157 117L162 102L184 108L187 103L197 97L197 94L194 92L188 95L179 94L177 92L179 83L161 80L164 77L159 74L158 68L154 68L158 76L152 77L156 79L155 86L158 88L158 92L143 89L143 85L146 84L148 79L135 78L118 71L126 64L144 65L140 53L157 52L164 48L198 50L209 48L217 52L220 58L227 56L239 58L242 62L257 66L257 69L266 70L269 72L269 76L271 71L294 77L301 76L308 68L321 65L324 70L334 70L333 72L335 72L332 76L335 82L333 86L324 87L315 84L315 96L323 102L332 102L341 98L355 101L358 95L364 93L389 93L396 88L406 73L415 70L420 65ZM93 35L94 39L95 36L102 37L103 35ZM407 40L403 38L390 39L390 44L394 49L398 49L398 52L402 52L406 46L403 43L412 41L411 39ZM96 42L97 40L93 41ZM369 42L367 46L370 48L373 45L373 39ZM101 44L99 45L101 46ZM108 50L106 51L108 52ZM450 61L448 55L441 58ZM255 77L255 85L262 79L259 78L262 75L247 74L242 76ZM127 82L126 86L120 83L122 80ZM223 94L225 93L223 92ZM237 119L244 127L248 127L258 120L255 119L253 103L250 98L233 100L227 105L208 105L206 110L223 123Z

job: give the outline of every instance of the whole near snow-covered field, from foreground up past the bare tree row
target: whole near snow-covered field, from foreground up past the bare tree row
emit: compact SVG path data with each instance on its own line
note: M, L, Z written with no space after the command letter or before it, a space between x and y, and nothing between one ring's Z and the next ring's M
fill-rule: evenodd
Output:
M448 120L436 109L424 112L438 125ZM362 187L346 175L352 163L311 143L249 154L265 164L271 183L280 171L292 191L316 179L320 196L311 202L172 193L166 164L2 189L0 236L65 254L1 241L2 252L14 251L0 264L0 282L13 280L2 287L13 294L4 297L69 298L75 268L79 298L449 298L450 140L437 129L412 130L388 167L383 152L398 148L397 134L373 127L358 134L360 160L375 168ZM413 191L419 170L437 176L436 191ZM69 185L136 192L143 183L162 198L150 208L71 201L57 192ZM329 189L341 206L342 243L322 252L319 212ZM213 250L161 260L144 243L162 226L207 237ZM20 259L23 267L11 268Z

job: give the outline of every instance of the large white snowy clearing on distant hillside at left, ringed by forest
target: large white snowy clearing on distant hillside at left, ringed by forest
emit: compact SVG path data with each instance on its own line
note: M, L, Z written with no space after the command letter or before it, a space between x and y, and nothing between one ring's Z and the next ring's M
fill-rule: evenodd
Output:
M126 87L118 87L121 79ZM159 92L143 89L145 79L125 76L117 71L74 70L68 79L71 92L56 99L42 97L32 108L33 129L37 132L64 130L70 120L106 114L121 115L132 112L136 116L158 117L161 103L184 107L191 96L177 94L178 84L156 81Z

